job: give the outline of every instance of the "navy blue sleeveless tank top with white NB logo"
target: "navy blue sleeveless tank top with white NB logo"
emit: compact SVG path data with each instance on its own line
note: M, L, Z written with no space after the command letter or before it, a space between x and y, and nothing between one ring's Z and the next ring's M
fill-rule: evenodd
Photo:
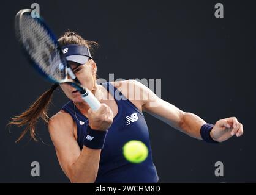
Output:
M102 85L115 98L118 105L118 113L108 129L104 148L100 154L96 182L158 182L156 167L152 161L148 126L143 113L111 83L103 83ZM118 94L119 98L116 98L114 94ZM75 107L72 101L67 102L62 107L62 110L69 113L76 122L77 142L80 149L82 149L88 118ZM80 121L85 122L85 124L80 124ZM148 157L142 163L129 163L124 158L122 147L130 140L140 140L148 147Z

